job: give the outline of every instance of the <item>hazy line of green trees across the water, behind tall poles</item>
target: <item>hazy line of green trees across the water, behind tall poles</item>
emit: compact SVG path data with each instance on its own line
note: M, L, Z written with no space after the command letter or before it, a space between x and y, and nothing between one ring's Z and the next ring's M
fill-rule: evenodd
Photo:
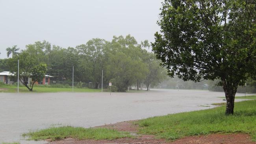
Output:
M54 76L54 83L70 84L74 66L76 83L81 81L86 83L85 86L100 88L103 70L103 87L108 87L111 82L113 90L125 91L131 86L139 89L142 83L147 87L153 86L166 78L166 70L160 66L160 61L146 50L149 47L147 40L138 43L127 35L114 36L112 41L91 39L75 48L61 48L47 41L37 41L26 45L15 55L21 57L26 53L26 61L36 59L46 64L46 74ZM8 61L11 59L0 59L0 72L10 71Z

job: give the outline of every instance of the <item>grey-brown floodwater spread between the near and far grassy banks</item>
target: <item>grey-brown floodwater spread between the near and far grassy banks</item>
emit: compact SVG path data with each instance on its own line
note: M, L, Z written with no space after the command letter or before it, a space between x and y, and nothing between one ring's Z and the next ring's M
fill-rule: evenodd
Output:
M209 109L213 107L209 104L223 102L218 96L224 96L224 92L155 89L150 92L112 92L111 95L109 92L1 93L0 143L44 143L27 141L20 135L51 126L94 127Z

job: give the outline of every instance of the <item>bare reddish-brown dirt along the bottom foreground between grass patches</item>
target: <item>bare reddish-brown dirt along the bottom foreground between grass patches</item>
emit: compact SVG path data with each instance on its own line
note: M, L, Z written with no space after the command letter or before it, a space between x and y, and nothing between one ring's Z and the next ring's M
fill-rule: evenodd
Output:
M211 134L185 137L171 142L165 139L156 139L154 135L137 135L138 126L134 125L134 122L136 121L97 126L118 131L128 131L134 135L134 138L119 138L115 140L76 140L66 138L49 142L49 144L256 144L256 142L251 141L250 135L247 134Z

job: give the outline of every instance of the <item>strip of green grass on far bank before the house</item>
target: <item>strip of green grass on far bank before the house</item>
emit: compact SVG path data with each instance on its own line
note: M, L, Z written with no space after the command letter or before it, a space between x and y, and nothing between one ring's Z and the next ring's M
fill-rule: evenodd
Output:
M0 85L0 92L17 92L16 85ZM19 92L30 92L26 87L20 85ZM33 87L33 92L72 92L72 88ZM101 92L101 89L74 88L74 92Z

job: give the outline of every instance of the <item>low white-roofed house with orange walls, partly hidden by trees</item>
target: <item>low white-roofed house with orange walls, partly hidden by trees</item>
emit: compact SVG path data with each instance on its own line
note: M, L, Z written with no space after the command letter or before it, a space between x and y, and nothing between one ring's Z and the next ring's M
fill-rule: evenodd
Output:
M13 84L14 81L11 81L11 76L14 76L14 74L4 71L0 72L0 82L5 83L5 84ZM42 82L40 84L42 85L50 85L50 78L53 78L53 76L45 75L44 78L42 79ZM28 78L28 81L31 81L31 78ZM35 82L35 84L39 84L38 82Z

